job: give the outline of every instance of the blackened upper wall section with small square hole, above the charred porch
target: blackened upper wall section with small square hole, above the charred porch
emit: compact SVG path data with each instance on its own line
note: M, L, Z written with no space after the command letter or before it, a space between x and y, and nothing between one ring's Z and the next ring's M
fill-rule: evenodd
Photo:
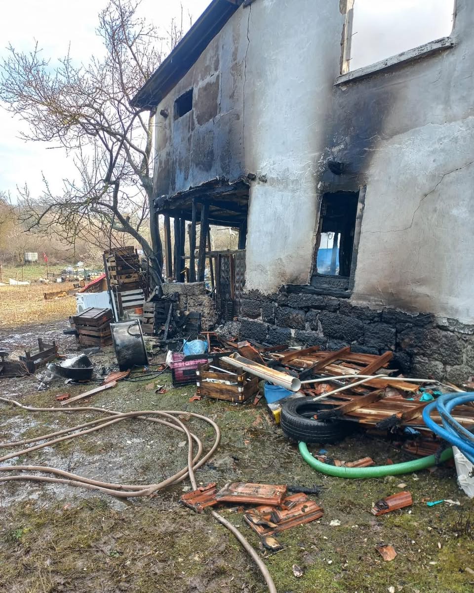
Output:
M156 197L172 196L216 177L236 180L243 176L246 44L246 23L231 18L159 104ZM175 100L191 89L193 108L175 117Z

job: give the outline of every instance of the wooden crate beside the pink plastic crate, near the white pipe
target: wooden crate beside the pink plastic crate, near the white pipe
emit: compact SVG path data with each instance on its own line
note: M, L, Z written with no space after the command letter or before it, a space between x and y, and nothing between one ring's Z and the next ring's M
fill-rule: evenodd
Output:
M235 367L226 365L220 360L213 366L219 366L225 371L232 371L232 374L216 371L210 368L209 364L201 366L196 371L197 394L199 396L212 397L215 400L242 402L254 398L257 395L258 377L252 377L248 372L236 371ZM230 381L235 383L235 385L226 385L225 382L214 383L206 381L206 379Z

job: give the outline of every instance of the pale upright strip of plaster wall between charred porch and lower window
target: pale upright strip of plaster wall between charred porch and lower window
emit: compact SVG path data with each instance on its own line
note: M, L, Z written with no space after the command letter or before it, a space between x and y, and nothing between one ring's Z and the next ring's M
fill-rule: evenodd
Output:
M271 293L309 280L315 163L344 17L338 2L321 0L257 0L246 10L245 167L268 181L251 187L245 288Z

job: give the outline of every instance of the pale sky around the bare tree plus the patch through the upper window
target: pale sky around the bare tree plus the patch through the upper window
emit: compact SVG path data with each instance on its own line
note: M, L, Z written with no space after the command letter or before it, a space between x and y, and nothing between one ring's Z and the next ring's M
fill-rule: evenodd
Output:
M35 40L44 56L57 58L68 52L87 62L100 55L101 42L95 34L98 12L107 0L1 1L0 59L9 43L28 51ZM299 0L294 0L295 5ZM336 1L336 0L328 0ZM142 0L140 10L163 33L172 18L180 17L181 4L196 21L210 0ZM350 69L354 70L450 33L454 0L355 0ZM67 9L65 9L67 7ZM408 15L408 17L407 17ZM189 19L186 24L189 26ZM28 184L31 195L41 193L42 174L59 192L62 179L74 177L72 159L63 149L43 142L18 138L24 124L0 108L0 192L17 196L17 186Z

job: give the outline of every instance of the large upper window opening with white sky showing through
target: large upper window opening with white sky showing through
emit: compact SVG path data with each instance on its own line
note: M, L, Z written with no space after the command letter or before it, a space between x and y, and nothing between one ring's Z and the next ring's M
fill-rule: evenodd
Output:
M447 37L456 0L348 0L342 74Z

